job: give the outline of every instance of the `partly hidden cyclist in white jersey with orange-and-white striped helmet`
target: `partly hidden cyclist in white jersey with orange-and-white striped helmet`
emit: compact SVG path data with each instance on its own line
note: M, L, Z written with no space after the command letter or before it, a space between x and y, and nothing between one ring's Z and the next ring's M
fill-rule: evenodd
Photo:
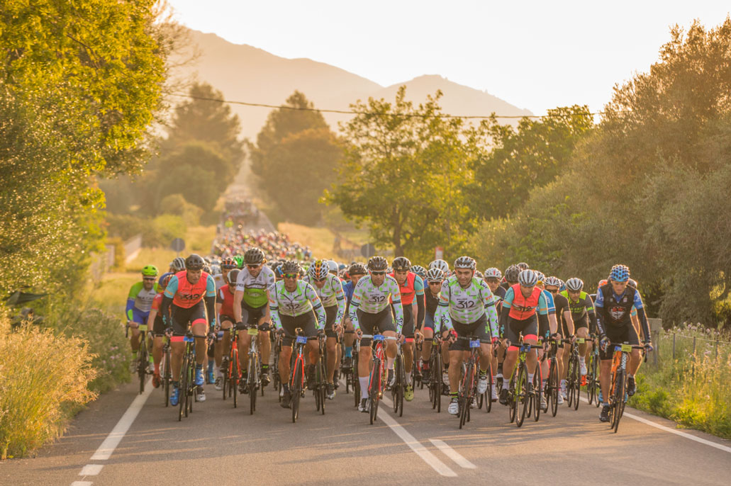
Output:
M345 293L340 278L330 273L325 260L315 260L302 279L310 284L325 308L325 335L327 336L327 398L335 398L335 368L338 365L337 338L342 330L341 322L345 315Z

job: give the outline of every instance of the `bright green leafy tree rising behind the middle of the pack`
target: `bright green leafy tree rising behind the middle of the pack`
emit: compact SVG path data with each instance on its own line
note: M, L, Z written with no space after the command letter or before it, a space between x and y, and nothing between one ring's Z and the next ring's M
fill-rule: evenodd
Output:
M442 117L441 96L414 107L401 86L394 103L351 105L359 114L342 126L345 156L325 200L367 224L374 243L393 246L396 256L427 258L436 244L456 254L477 224L463 188L484 133Z

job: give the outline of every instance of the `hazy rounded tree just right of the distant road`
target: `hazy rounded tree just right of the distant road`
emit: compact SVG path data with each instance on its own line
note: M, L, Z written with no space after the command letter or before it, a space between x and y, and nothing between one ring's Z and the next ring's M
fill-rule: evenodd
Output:
M304 94L295 91L285 106L296 109L273 110L257 145L249 145L251 172L287 219L317 224L322 218L318 200L330 184L341 148Z

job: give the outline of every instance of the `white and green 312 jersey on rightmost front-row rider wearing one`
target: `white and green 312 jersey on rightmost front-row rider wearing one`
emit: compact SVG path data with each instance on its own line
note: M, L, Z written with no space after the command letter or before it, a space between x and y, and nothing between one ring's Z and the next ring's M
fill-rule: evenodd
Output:
M472 277L469 285L463 288L457 276L451 276L442 283L434 324L442 322L447 329L452 329L452 319L462 324L472 324L477 322L482 314L487 314L492 335L498 335L496 302L497 299L490 291L490 287L481 278Z

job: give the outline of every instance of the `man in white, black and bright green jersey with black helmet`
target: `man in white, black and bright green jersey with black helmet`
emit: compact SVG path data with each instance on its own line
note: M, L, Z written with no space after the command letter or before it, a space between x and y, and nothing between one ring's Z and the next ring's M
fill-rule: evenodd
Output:
M245 267L238 273L236 292L233 296L233 318L236 319L236 329L243 330L249 326L260 326L270 322L269 292L276 279L270 267L264 265L267 261L264 251L256 246L246 250L243 255ZM269 333L262 331L259 340L262 356L262 384L269 383L269 353L271 343ZM246 359L251 344L251 335L241 333L238 337L239 369L243 376L249 371L249 360ZM241 381L240 390L248 392Z

